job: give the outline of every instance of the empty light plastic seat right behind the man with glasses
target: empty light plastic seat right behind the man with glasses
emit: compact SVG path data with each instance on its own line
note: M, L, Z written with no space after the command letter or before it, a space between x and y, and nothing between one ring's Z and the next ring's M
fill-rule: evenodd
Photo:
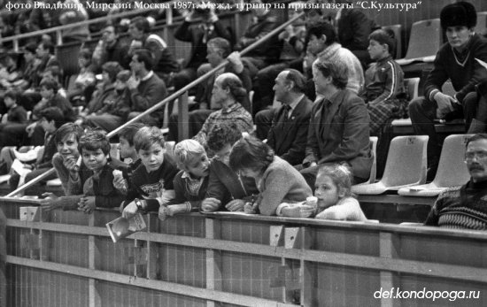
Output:
M471 134L452 134L444 139L435 179L419 186L399 188L402 196L437 196L444 189L460 186L468 181L470 175L463 163L465 144Z

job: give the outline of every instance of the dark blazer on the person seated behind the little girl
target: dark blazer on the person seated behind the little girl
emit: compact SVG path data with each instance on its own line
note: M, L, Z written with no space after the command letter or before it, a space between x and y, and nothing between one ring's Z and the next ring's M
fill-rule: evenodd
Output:
M364 101L342 89L330 100L316 102L311 114L304 163L347 162L354 176L368 178L373 158L369 146L370 118Z

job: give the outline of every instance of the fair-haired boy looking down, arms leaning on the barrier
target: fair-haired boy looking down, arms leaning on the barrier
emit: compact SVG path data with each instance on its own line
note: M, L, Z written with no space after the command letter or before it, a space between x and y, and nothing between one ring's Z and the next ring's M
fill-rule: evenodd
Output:
M210 160L205 148L195 140L184 140L174 146L176 165L181 170L174 177L175 198L171 204L161 206L158 218L166 219L174 214L197 211L208 188Z

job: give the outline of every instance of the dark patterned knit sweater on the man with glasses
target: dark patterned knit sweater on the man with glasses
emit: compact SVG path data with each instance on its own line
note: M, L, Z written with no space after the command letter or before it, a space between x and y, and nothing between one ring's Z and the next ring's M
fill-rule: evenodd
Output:
M487 181L448 188L424 222L426 226L487 230Z

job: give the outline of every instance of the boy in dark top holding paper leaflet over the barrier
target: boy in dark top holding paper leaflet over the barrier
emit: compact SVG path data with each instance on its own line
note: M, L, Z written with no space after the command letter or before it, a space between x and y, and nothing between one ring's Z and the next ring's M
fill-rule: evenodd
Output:
M173 159L166 154L164 135L158 127L141 128L134 136L134 145L141 165L132 175L123 203L122 217L126 219L137 211L158 211L160 205L173 199L173 180L178 173Z

